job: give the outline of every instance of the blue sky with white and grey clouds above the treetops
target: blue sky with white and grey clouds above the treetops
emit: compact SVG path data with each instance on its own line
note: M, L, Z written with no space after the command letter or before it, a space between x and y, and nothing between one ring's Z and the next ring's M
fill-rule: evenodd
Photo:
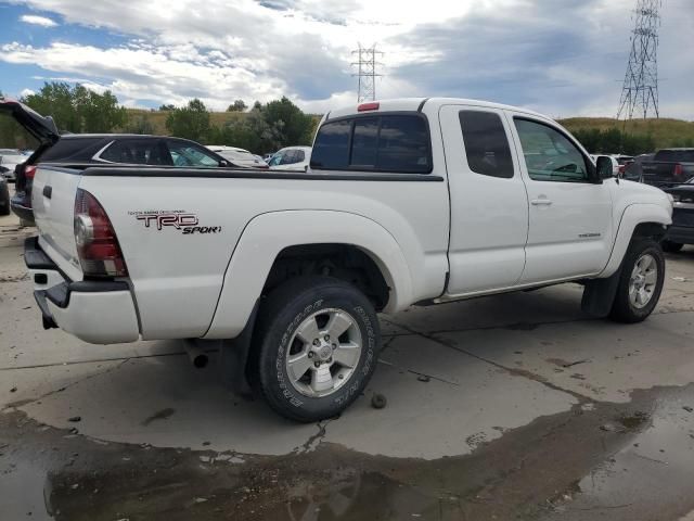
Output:
M635 0L0 1L0 90L47 80L128 106L223 110L287 96L356 102L351 50L373 43L378 98L451 96L555 117L614 116ZM694 119L694 0L664 0L661 115Z

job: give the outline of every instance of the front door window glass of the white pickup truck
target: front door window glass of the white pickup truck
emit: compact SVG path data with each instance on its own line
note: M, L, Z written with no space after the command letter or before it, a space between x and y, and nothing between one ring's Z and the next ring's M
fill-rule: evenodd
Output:
M589 182L586 157L566 136L539 122L516 117L514 123L530 179Z

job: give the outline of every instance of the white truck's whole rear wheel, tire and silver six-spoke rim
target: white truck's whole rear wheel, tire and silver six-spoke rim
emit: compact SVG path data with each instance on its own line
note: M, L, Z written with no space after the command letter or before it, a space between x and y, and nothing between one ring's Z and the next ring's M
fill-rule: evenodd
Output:
M268 295L254 339L255 386L280 415L318 421L345 410L376 366L376 313L354 285L292 280Z

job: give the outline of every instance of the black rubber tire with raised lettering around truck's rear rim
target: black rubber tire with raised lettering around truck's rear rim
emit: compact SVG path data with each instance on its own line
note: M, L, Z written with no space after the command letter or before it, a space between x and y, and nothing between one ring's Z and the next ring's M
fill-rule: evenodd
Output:
M345 312L354 319L350 334L361 339L361 354L348 377L332 394L307 396L290 380L286 358L297 348L290 345L299 326L322 309ZM320 323L319 323L320 329ZM321 333L322 334L322 333ZM342 341L339 341L342 342ZM298 345L304 344L298 341ZM286 282L261 304L252 345L250 380L270 407L292 420L314 422L333 418L361 394L376 367L381 348L378 318L369 300L354 285L330 277L301 277ZM311 347L304 344L299 350ZM317 356L313 354L313 356ZM325 361L329 364L332 361ZM339 369L342 366L330 366ZM313 369L307 373L309 380ZM308 385L305 383L305 385Z

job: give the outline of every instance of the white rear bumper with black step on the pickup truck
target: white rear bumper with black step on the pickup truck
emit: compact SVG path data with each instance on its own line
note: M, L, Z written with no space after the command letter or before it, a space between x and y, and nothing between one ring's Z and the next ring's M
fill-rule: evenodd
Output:
M24 258L34 279L34 297L44 328L61 328L92 344L133 342L140 338L127 282L73 282L46 255L36 238L25 241Z

